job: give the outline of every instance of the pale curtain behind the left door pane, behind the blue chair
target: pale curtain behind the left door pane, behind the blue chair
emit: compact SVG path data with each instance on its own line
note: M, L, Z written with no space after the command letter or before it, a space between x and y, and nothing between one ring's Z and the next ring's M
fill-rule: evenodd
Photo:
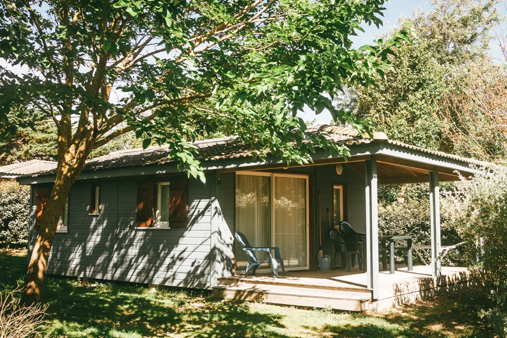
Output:
M236 231L243 233L252 247L270 246L270 177L236 175ZM265 252L256 252L259 260ZM236 241L236 269L244 270L248 256ZM262 266L262 268L268 266Z

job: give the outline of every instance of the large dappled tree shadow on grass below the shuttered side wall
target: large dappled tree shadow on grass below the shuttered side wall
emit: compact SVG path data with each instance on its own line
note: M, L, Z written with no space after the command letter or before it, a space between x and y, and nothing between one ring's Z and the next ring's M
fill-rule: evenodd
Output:
M48 278L44 302L50 304L50 336L147 337L183 336L283 337L281 316L252 314L246 304L220 302L203 294L159 291L143 286L78 285L66 278Z

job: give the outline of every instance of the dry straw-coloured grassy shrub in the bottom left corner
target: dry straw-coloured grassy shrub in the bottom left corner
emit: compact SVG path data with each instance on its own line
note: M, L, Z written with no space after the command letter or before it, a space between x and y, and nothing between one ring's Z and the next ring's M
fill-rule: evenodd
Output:
M47 305L20 306L18 288L0 293L0 338L26 338L40 336Z

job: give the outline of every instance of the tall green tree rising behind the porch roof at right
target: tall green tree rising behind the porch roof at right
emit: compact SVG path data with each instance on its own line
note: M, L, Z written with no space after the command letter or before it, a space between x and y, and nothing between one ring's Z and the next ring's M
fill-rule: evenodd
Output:
M351 88L342 102L360 119L371 119L389 138L448 153L473 156L447 133L439 109L467 76L470 63L488 60L491 30L500 21L497 0L434 0L410 18L415 37L395 49L392 69L376 84Z

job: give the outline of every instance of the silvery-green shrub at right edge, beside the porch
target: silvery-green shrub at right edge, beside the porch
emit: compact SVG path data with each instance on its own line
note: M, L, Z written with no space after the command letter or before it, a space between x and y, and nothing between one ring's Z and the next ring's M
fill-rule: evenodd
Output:
M482 314L507 337L507 168L482 170L462 186L452 217L470 252L469 270L491 300Z

